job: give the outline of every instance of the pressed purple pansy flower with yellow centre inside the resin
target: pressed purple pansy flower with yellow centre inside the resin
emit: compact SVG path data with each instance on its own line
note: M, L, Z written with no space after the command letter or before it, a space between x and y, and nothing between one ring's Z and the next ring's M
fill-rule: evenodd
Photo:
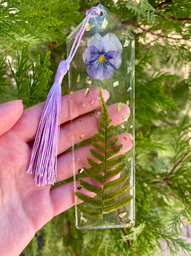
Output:
M123 47L116 35L108 33L104 37L96 33L87 41L83 52L83 62L87 64L87 74L94 79L109 80L114 68L121 66Z

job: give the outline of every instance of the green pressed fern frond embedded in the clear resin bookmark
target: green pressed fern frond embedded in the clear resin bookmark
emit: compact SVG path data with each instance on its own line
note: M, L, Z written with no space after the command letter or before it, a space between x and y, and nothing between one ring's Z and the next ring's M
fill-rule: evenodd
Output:
M101 87L100 98L102 103L102 116L100 117L99 125L101 128L98 127L97 130L99 134L94 135L97 141L101 142L102 145L97 142L92 142L93 147L99 152L95 151L94 149L90 149L90 152L91 155L101 163L97 163L91 158L87 158L89 165L91 165L93 168L87 169L83 167L83 174L85 174L87 177L90 177L91 179L94 179L100 184L100 186L95 186L88 183L87 181L79 179L83 188L95 193L96 196L89 197L79 192L75 193L78 198L90 205L90 208L83 205L77 205L78 210L93 218L99 219L103 217L103 214L108 214L127 205L133 198L133 196L128 196L123 199L119 198L130 187L130 184L125 184L123 187L109 191L110 189L116 188L119 185L125 183L130 174L125 174L118 179L108 181L108 179L118 175L125 169L126 163L121 162L125 160L126 156L121 155L118 157L113 157L116 153L120 152L123 145L118 145L115 147L119 141L119 137L112 139L115 135L115 131L113 130L114 125L110 125L112 120L109 118L110 114L108 113L108 109L104 102L101 93ZM117 200L115 200L116 198ZM93 210L91 206L96 207L97 210Z

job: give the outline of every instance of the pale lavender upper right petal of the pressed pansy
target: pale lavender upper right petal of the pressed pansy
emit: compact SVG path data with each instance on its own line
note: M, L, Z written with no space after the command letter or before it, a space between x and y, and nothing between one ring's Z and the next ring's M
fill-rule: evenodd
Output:
M121 54L123 52L123 47L116 35L113 33L108 33L102 38L105 51L119 51ZM95 44L94 44L95 45Z

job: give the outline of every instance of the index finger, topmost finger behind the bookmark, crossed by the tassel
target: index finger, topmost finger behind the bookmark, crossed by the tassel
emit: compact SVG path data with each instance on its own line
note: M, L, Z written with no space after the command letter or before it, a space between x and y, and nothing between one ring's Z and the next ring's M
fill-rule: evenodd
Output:
M85 91L86 89L81 89L75 91L70 96L62 96L61 124L101 106L101 100L98 99L100 95L99 87L89 88L90 93L87 95L85 95ZM109 92L102 89L102 94L106 102L109 98ZM44 105L45 102L42 102L25 109L18 122L12 128L13 131L27 143L35 139ZM70 111L70 108L72 108L72 111Z

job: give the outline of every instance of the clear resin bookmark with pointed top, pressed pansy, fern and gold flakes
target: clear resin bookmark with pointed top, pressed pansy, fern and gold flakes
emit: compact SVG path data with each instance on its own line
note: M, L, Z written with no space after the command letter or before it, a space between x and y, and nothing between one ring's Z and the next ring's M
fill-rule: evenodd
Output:
M100 15L89 13L67 37L70 56L85 27L68 70L71 119L77 90L79 112L86 112L71 121L76 225L125 228L135 222L135 41L103 5L97 8Z

